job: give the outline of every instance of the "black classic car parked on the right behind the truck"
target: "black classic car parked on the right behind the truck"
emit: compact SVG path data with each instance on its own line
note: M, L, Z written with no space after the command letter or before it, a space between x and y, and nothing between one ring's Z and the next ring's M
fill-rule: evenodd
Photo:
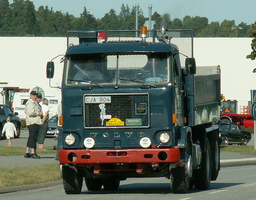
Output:
M219 139L221 145L239 144L247 145L251 140L251 132L242 130L241 126L234 122L219 123Z

